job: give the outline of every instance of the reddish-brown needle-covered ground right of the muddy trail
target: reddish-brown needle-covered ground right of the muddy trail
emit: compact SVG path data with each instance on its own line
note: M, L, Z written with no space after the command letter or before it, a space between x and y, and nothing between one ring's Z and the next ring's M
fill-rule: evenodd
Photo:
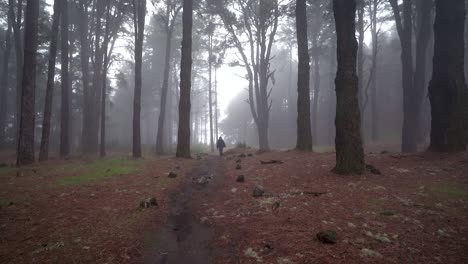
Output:
M266 153L241 170L228 158L225 186L203 212L222 230L214 246L235 244L219 262L468 263L467 153L366 158L381 175L335 175L334 154ZM272 159L284 163L260 165ZM257 184L265 197L252 197ZM337 233L335 245L317 241L323 230Z

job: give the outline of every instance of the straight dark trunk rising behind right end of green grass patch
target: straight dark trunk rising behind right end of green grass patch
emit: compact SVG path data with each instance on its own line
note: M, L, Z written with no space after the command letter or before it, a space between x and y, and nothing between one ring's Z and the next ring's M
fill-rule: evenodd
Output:
M141 85L143 40L145 37L146 0L134 1L135 95L133 99L133 157L141 157Z

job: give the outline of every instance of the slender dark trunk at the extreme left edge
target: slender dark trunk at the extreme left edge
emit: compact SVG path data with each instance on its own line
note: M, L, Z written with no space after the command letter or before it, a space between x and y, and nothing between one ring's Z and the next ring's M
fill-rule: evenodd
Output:
M5 32L5 50L3 53L2 72L0 73L0 149L6 144L6 117L8 111L8 66L11 53L11 16L8 14L7 31Z

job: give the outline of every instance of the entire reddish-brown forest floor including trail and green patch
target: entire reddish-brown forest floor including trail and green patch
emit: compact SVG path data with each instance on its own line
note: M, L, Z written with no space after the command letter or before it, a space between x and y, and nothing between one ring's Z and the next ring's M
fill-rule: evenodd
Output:
M467 152L368 153L360 176L333 174L334 158L236 149L0 168L0 263L468 263ZM159 206L140 208L149 197ZM328 230L336 243L317 239Z

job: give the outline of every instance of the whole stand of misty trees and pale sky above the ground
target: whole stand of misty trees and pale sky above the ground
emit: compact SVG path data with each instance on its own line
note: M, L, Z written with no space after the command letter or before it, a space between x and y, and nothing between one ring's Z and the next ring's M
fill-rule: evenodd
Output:
M464 151L465 5L3 0L0 147L17 165L35 146L39 161L190 158L222 135L334 149L343 174L364 171L365 151Z

